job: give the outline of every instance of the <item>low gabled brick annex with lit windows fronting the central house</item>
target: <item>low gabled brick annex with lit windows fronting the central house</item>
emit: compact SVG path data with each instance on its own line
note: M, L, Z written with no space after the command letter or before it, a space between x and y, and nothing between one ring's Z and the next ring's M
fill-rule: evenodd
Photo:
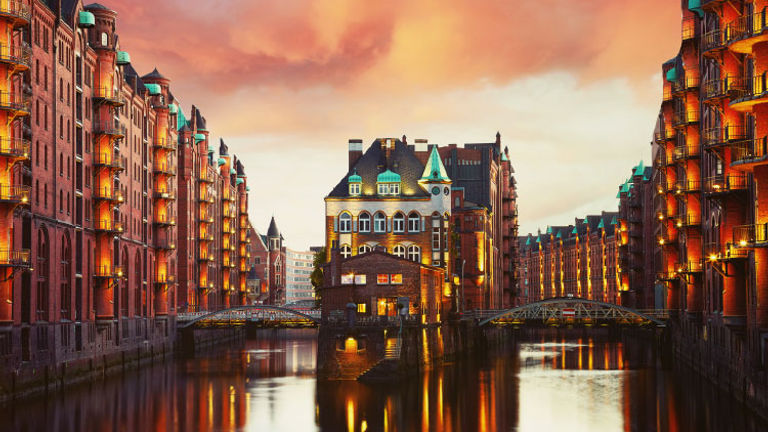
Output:
M395 318L398 304L407 304L407 315L434 323L450 307L441 267L392 255L383 247L347 258L338 249L330 255L323 267L323 319L345 317L349 303L356 305L358 318Z

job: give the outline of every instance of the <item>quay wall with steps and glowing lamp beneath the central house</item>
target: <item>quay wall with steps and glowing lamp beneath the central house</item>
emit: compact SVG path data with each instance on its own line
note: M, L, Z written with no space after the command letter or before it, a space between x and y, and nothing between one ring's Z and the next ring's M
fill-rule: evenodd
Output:
M396 321L352 326L321 324L317 344L318 379L389 381L404 378L470 352L481 341L480 329L473 321L407 322L402 325L402 333L400 328Z

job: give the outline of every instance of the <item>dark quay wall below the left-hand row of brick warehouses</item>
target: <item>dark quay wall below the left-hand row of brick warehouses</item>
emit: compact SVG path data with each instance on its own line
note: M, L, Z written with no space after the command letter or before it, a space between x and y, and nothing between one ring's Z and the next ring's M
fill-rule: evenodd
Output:
M36 323L2 329L0 403L61 390L173 356L175 317Z

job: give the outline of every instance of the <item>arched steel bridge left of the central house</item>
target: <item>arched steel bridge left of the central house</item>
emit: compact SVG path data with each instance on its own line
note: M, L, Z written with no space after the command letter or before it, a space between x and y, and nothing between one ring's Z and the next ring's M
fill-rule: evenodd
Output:
M317 315L317 316L313 316ZM201 321L311 321L319 322L319 310L298 311L271 305L232 306L217 311L192 312L178 315L179 328L185 328Z

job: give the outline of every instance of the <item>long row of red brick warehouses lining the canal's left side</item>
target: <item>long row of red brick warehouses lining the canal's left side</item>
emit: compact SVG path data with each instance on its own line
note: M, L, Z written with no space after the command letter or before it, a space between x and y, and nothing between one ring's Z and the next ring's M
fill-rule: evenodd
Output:
M241 301L245 273L221 263L245 259L242 164L221 168L225 150L216 170L199 111L188 122L168 78L131 67L116 25L99 4L0 2L4 370L162 351L178 306Z

